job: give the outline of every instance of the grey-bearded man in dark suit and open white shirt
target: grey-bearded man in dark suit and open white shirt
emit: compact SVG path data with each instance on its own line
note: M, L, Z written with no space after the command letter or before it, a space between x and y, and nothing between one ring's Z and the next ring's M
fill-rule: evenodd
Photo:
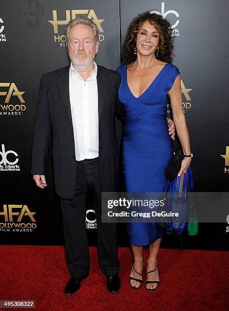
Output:
M66 27L71 66L42 75L31 173L40 188L47 186L45 165L53 142L55 189L60 197L66 260L71 278L65 294L80 288L88 274L89 251L85 228L85 197L91 192L97 221L99 263L107 288L120 287L116 224L101 221L101 193L115 192L118 145L115 116L122 115L117 100L119 74L97 66L97 26L75 18Z

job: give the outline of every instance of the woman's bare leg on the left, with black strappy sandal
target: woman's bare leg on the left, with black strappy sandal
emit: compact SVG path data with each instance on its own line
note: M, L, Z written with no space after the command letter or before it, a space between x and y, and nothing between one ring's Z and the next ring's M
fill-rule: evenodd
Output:
M131 245L132 252L134 255L134 264L133 266L135 267L135 270L138 271L140 274L142 274L142 267L143 267L143 246L136 246L136 245ZM139 278L142 279L142 276L139 275L138 273L135 272L135 270L132 267L132 270L130 272L131 277ZM133 279L130 280L130 284L133 287L139 288L141 284L138 281L134 281Z

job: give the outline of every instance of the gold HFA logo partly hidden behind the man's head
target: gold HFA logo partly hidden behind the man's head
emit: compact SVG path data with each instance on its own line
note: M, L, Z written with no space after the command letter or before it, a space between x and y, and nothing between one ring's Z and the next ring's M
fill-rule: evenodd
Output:
M101 25L104 19L98 19L94 10L72 10L71 13L72 13L72 19L74 19L77 15L86 15L88 18L92 19L93 22L96 24L97 28L99 29L100 42L104 41L105 37L104 35L102 35L102 33L104 33L104 29L103 29L103 26ZM52 16L53 16L53 20L49 20L48 22L50 22L53 25L54 34L59 33L58 25L67 25L71 20L70 10L66 10L65 20L57 20L56 10L52 11ZM64 35L58 35L58 36L54 35L53 39L54 39L54 42L58 42L60 44L60 47L68 46L66 43L66 36Z

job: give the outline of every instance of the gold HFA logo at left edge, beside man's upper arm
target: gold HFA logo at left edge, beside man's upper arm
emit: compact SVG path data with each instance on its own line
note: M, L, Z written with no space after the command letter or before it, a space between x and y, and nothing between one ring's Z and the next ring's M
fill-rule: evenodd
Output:
M0 92L0 96L6 97L4 103L0 103L0 115L21 115L26 110L22 97L24 91L19 91L15 83L0 83L0 87L7 89ZM15 103L16 101L18 103Z

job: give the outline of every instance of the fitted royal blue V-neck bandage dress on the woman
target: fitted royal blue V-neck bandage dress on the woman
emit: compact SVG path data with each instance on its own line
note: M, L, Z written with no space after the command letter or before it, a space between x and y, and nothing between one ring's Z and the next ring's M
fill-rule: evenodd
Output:
M168 90L179 70L166 64L144 93L136 98L127 84L127 67L121 74L118 97L125 109L122 135L122 174L126 192L163 192L164 173L173 157L173 141L167 124ZM128 223L129 243L148 245L161 238L165 229L156 223Z

